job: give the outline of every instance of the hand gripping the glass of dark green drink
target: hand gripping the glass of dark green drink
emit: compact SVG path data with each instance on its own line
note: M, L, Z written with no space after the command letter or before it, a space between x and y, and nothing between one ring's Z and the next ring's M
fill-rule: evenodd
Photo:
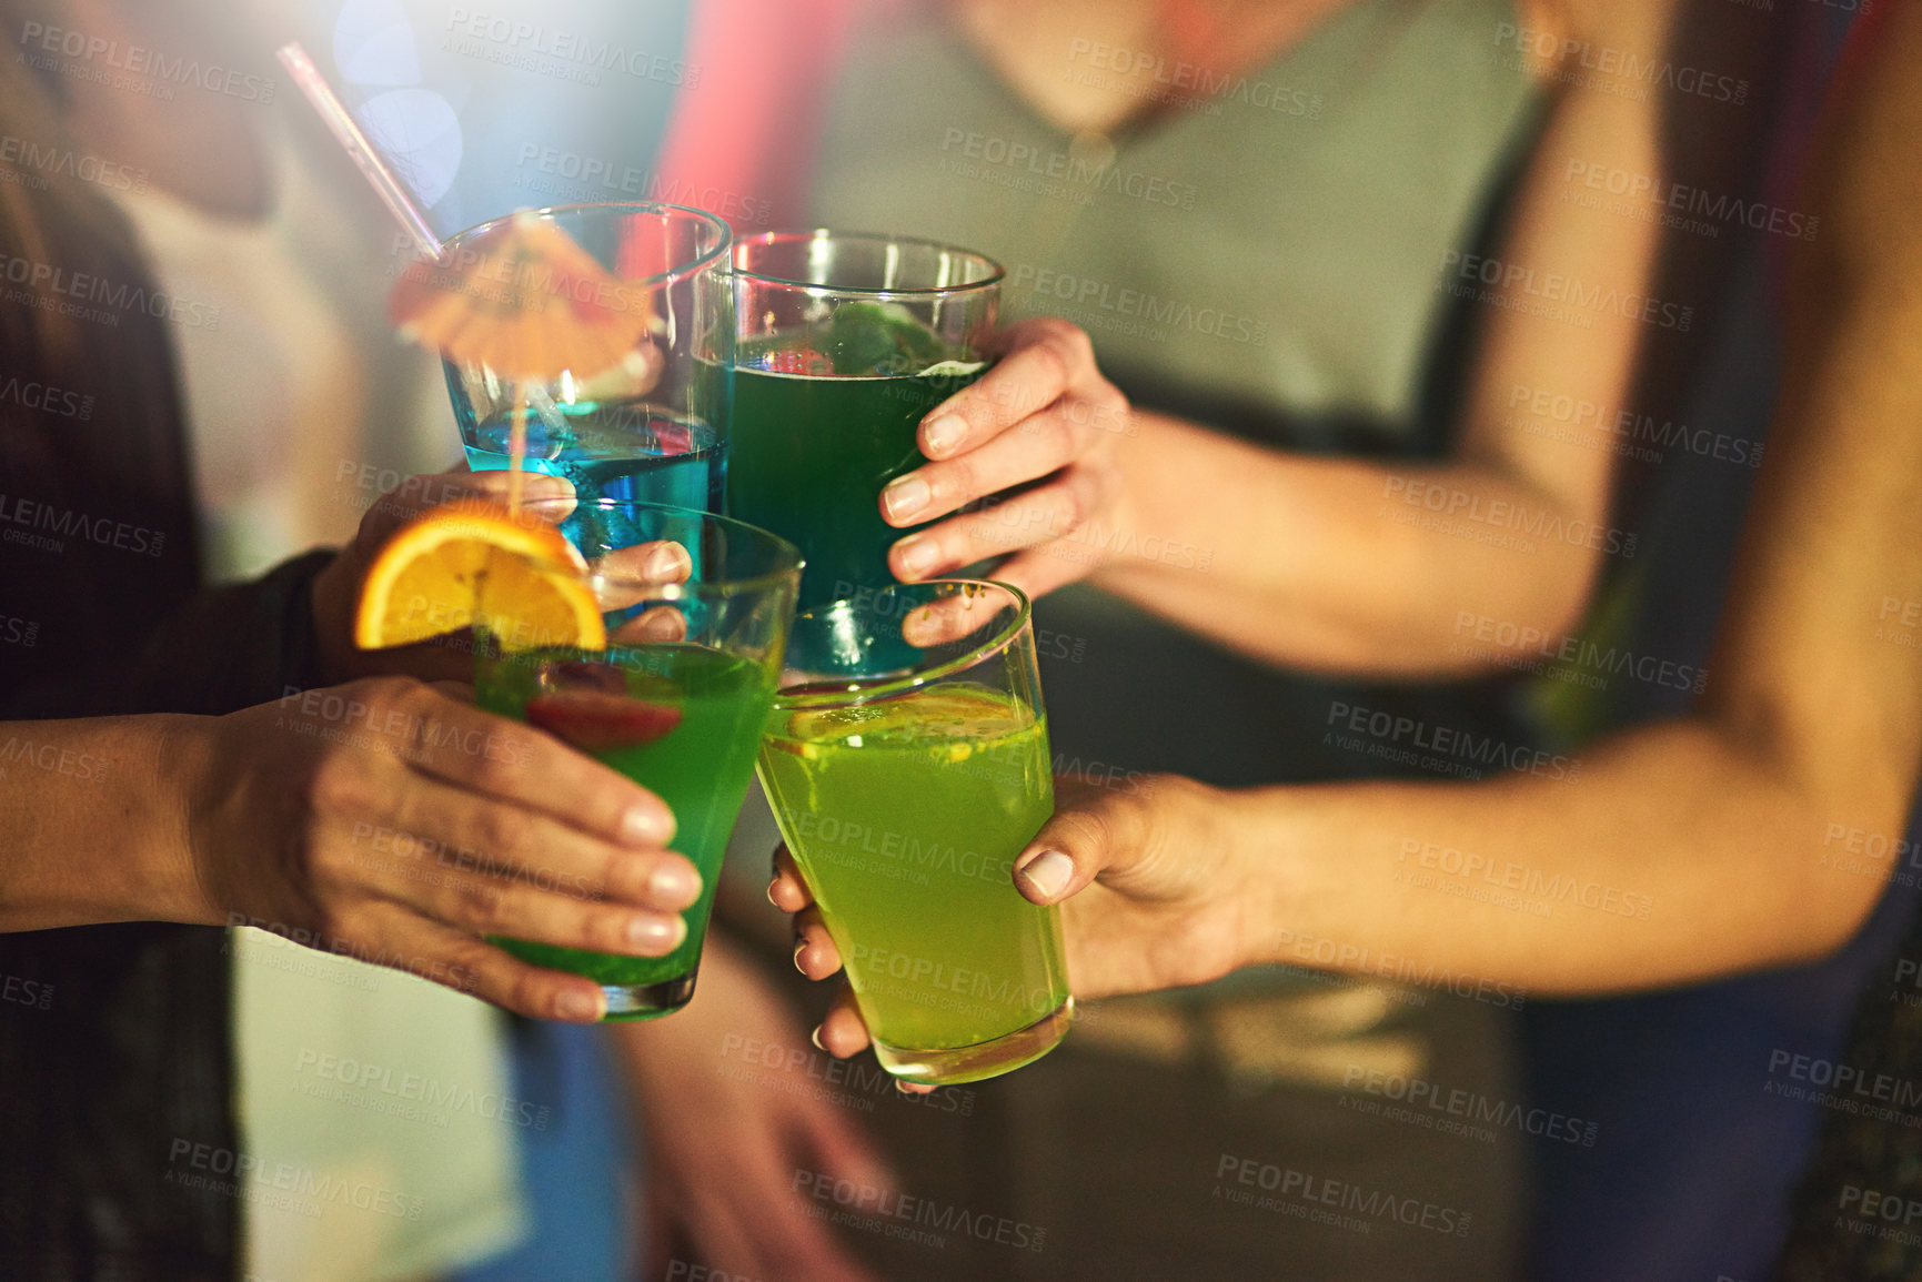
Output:
M1128 400L1101 377L1088 334L1042 317L1009 327L1001 344L994 369L921 421L917 442L932 461L888 482L880 515L909 527L1042 484L894 544L888 567L901 582L1013 554L994 577L1042 596L1099 567L1094 546L1071 542L1076 530L1126 525L1115 456L1132 431Z

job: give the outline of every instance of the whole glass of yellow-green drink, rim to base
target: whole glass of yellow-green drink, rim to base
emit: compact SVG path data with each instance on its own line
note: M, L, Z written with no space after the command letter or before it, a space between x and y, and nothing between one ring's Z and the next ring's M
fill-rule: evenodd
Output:
M1061 909L1013 861L1053 813L1026 600L942 580L796 619L807 653L905 642L890 677L813 671L782 690L761 786L840 949L875 1053L915 1082L971 1082L1046 1055L1072 1013ZM800 648L798 648L800 650ZM832 667L832 665L828 665Z

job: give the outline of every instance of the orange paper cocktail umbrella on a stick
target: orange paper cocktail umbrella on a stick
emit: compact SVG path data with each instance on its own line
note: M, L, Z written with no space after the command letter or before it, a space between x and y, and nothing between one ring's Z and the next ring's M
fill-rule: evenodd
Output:
M584 382L615 365L636 365L653 308L644 288L609 273L552 221L517 213L438 259L407 267L388 315L402 336L513 381L513 505L527 454L527 384L569 371ZM638 363L646 365L646 356ZM657 377L657 369L632 373L650 384Z

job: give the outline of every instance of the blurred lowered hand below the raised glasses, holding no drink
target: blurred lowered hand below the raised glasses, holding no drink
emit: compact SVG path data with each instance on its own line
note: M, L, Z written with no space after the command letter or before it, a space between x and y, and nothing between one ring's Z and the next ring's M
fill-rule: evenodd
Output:
M876 1190L894 1178L851 1115L811 1094L801 1072L765 1065L765 1048L813 1048L746 959L709 936L694 1001L673 1019L621 1024L615 1036L648 1124L650 1192L686 1230L698 1263L715 1276L765 1282L873 1278L826 1224L801 1213L796 1172ZM750 1046L761 1063L744 1057Z

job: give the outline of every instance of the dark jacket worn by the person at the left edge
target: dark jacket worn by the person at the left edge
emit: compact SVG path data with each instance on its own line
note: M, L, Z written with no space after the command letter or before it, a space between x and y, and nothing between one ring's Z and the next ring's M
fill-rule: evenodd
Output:
M90 213L0 252L148 298L131 238L102 236L115 219ZM308 582L325 555L200 590L165 323L136 302L90 311L69 342L46 342L27 294L0 304L0 719L19 723L0 771L13 778L108 769L38 752L31 719L225 713L317 675ZM225 932L0 934L0 1276L231 1278L246 1176Z

